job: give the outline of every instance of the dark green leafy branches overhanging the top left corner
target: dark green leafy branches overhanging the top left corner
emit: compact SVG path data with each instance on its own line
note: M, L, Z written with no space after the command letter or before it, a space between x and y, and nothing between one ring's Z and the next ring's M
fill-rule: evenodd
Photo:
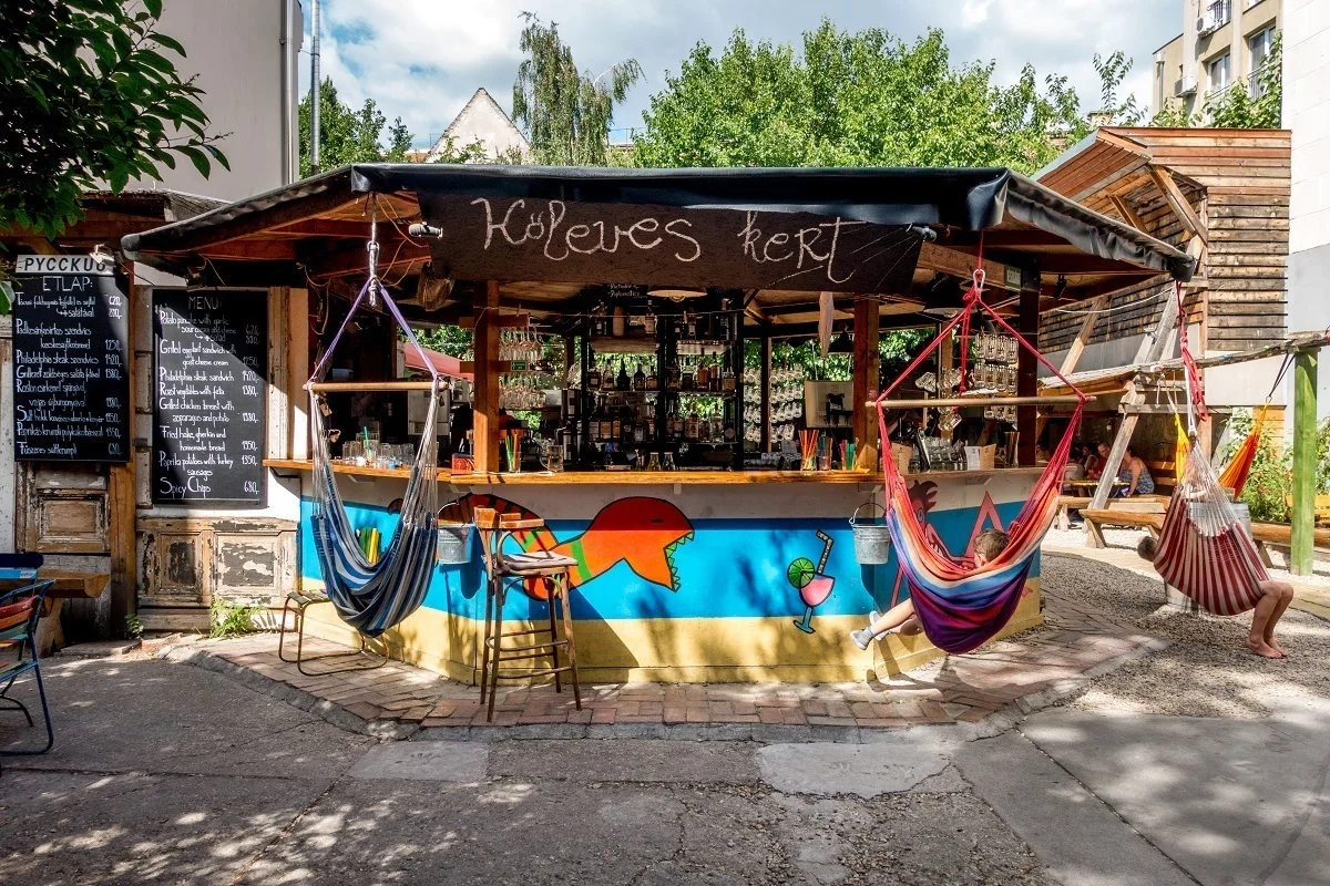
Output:
M203 90L172 60L184 46L156 31L161 5L0 3L0 226L55 235L82 217L86 190L161 179L177 157L205 177L226 166Z

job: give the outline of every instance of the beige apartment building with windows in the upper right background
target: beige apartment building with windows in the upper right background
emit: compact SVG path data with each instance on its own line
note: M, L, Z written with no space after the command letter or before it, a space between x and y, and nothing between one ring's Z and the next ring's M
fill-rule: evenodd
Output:
M1281 25L1283 0L1184 0L1182 33L1154 53L1150 113L1181 102L1201 113L1206 101L1241 82L1260 94L1261 65Z

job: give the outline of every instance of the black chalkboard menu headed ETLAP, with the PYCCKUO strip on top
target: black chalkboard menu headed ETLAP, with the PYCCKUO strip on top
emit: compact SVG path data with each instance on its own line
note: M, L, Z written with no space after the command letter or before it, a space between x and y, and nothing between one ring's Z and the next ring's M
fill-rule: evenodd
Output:
M15 262L13 444L20 461L129 461L129 299L109 256Z

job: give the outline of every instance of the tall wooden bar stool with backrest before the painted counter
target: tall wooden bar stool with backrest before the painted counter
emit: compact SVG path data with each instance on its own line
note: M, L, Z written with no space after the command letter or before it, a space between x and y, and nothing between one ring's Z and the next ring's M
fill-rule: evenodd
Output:
M495 692L499 680L520 680L532 676L553 675L555 692L563 692L563 673L571 673L573 680L573 703L581 711L581 687L577 683L577 651L573 646L572 612L568 606L568 570L577 565L571 557L552 551L531 551L520 554L503 553L504 542L521 530L544 529L543 519L519 519L515 514L500 515L492 507L475 509L476 531L480 534L480 549L485 558L485 639L480 664L480 701L488 695L487 720L495 719ZM503 630L503 606L508 590L527 579L537 578L549 588L549 627L528 631ZM555 607L559 607L564 622L564 636L560 639L555 622ZM548 634L548 640L540 639ZM536 638L535 643L504 648L507 638ZM568 652L568 664L559 663L559 651ZM501 673L504 662L533 660L549 658L548 668L523 669L517 673Z

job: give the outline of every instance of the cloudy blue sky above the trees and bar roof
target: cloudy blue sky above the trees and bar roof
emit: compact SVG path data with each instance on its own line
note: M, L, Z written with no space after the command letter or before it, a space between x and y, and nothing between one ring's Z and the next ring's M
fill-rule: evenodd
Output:
M310 3L305 0L309 49ZM1123 49L1136 60L1128 88L1149 105L1153 52L1182 29L1180 0L323 0L323 74L343 101L374 98L388 116L402 117L418 143L431 141L452 121L477 86L504 110L521 53L520 13L559 23L579 66L600 73L633 57L646 80L614 120L614 139L641 125L665 72L698 40L720 49L734 28L753 39L798 43L827 16L841 28L883 27L912 40L928 27L947 35L954 62L995 61L1009 82L1021 65L1040 76L1071 78L1087 110L1097 102L1092 58ZM301 82L309 89L309 54Z

